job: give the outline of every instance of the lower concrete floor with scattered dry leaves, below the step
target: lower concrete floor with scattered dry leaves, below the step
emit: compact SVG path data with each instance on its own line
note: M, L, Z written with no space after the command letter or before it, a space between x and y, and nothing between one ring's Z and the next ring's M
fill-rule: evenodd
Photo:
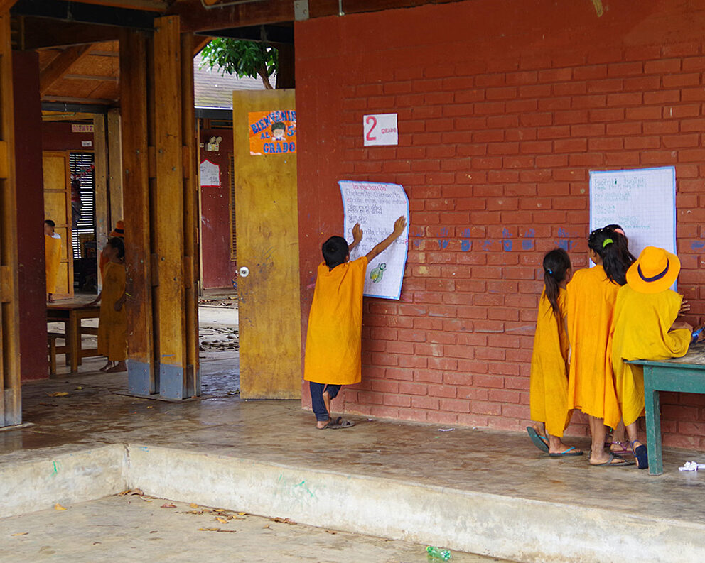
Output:
M176 508L161 508L163 505ZM112 496L66 508L0 520L0 560L13 563L45 559L58 563L95 563L108 559L150 563L427 561L424 545L230 511L216 513L202 506L158 498ZM456 563L497 561L500 559L453 552Z

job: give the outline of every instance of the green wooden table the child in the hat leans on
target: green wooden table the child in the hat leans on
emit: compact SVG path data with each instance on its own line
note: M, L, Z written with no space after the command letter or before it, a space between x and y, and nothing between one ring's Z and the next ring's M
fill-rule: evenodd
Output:
M691 346L682 358L662 361L634 360L630 364L644 367L646 403L646 441L649 450L649 473L663 473L661 450L661 391L705 394L705 343Z

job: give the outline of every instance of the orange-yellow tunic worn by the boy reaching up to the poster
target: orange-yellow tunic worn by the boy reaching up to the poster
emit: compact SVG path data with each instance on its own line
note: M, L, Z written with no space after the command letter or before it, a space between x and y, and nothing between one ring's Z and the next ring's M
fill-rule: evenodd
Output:
M314 383L360 383L362 363L362 291L367 258L330 270L318 266L306 334L303 378Z

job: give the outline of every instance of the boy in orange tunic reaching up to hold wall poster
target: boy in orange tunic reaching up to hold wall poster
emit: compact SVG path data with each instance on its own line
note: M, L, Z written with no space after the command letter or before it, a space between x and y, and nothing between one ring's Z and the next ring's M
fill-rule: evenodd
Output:
M367 256L350 262L350 251L362 240L360 224L353 227L353 244L342 236L323 243L306 334L303 379L311 388L313 414L318 430L350 428L355 422L330 417L330 401L343 385L360 383L362 361L362 292L367 264L384 252L404 232L407 220L399 217L394 231Z

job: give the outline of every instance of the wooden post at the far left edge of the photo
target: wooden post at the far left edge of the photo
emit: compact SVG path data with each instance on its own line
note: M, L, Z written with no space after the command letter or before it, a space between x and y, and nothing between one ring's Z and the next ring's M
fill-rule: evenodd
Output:
M5 12L0 16L0 426L22 422L14 151L10 14Z

